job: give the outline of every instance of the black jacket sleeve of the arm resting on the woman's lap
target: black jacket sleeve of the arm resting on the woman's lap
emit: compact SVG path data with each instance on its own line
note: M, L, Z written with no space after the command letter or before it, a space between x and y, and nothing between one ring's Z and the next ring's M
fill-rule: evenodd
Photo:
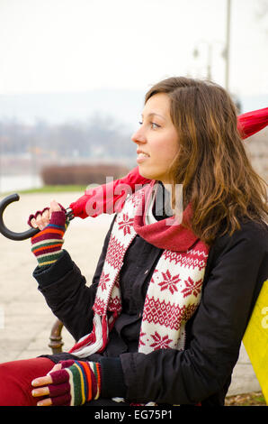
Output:
M267 231L251 224L232 236L219 237L210 249L201 304L191 319L186 349L121 355L127 399L195 404L228 383L268 275Z

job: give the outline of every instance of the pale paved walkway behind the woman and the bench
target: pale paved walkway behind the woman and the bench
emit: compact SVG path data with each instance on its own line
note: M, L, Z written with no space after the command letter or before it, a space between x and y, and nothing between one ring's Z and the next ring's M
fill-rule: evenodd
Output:
M61 193L55 199L64 206L76 200L80 193ZM19 202L8 206L4 212L4 223L13 231L24 231L29 215L42 207L49 206L51 194L24 194ZM3 198L3 197L0 197ZM92 281L95 265L103 247L111 216L103 215L85 220L72 221L65 237L65 248L84 273ZM86 236L88 241L85 249ZM25 359L51 353L49 349L50 329L55 322L31 273L36 260L31 254L31 242L14 242L0 235L0 363ZM73 346L74 340L63 329L64 349ZM260 391L259 383L242 345L233 381L228 394Z

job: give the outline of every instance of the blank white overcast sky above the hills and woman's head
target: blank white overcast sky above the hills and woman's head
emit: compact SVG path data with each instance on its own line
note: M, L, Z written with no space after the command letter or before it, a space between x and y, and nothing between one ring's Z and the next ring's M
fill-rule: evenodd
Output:
M268 0L231 5L230 89L268 94ZM0 94L205 77L209 46L224 85L226 9L227 0L0 0Z

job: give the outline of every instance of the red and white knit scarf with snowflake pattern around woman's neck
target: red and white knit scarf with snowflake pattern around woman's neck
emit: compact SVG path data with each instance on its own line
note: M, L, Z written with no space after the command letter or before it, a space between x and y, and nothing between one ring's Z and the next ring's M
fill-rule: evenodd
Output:
M185 324L198 308L209 247L186 229L191 206L183 212L183 223L171 218L146 224L156 181L126 199L112 228L103 272L94 301L94 327L70 353L86 357L105 349L109 332L121 314L120 272L132 240L138 234L164 249L149 281L139 334L138 352L159 348L181 350L185 346ZM173 225L171 225L173 224Z

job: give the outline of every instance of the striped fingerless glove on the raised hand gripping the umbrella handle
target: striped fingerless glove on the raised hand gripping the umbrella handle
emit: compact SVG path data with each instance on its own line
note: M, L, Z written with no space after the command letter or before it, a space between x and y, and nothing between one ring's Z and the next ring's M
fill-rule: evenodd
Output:
M39 266L55 263L62 252L68 222L64 210L52 212L49 225L31 237L31 252Z

